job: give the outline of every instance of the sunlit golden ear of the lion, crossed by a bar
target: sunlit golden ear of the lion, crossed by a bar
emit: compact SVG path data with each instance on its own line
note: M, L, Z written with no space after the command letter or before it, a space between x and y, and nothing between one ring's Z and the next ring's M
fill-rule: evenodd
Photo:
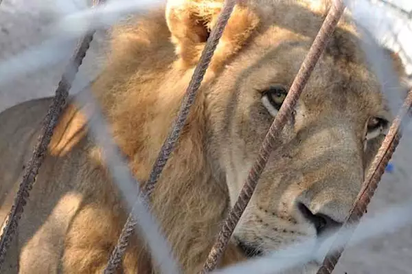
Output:
M198 62L223 5L223 0L168 0L166 20L183 66L192 67ZM238 52L258 23L258 15L238 3L216 47L211 67L220 67Z

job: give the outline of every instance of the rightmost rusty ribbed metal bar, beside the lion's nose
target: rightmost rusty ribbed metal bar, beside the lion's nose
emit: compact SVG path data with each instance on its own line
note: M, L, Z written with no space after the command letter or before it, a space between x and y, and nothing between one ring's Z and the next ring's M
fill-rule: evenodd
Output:
M369 205L371 198L374 196L375 190L378 187L378 183L382 174L385 172L385 167L389 163L393 152L395 152L396 146L398 146L400 140L400 124L407 117L407 113L411 109L412 104L412 90L409 91L407 98L402 105L398 115L393 120L389 133L382 141L382 145L378 150L378 154L374 158L374 161L369 168L367 177L363 182L361 191L356 197L356 201L350 210L350 214L347 216L342 229L345 229L345 233L338 233L336 240L332 244L330 251L323 260L322 266L317 274L330 274L334 270L339 258L341 258L342 252L345 249L345 245L350 240L352 233L358 226L359 220L361 220L363 214L366 212L367 205ZM339 244L338 244L339 242ZM336 248L339 247L340 248ZM332 250L336 250L332 252Z

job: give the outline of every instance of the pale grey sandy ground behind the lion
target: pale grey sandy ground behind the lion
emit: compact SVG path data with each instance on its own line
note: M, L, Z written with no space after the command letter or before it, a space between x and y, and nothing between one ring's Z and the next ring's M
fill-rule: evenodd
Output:
M48 37L57 16L53 12L45 11L44 7L56 12L60 4L58 2L58 0L3 0L0 8L0 64L34 45L40 45ZM65 4L68 2L70 1L65 1ZM39 8L40 3L43 5L42 9ZM66 8L73 8L73 5L66 5ZM97 73L100 67L97 60L103 52L104 45L104 36L99 33L92 43L81 71L91 76ZM66 54L55 65L36 70L34 73L26 73L8 84L2 84L0 111L24 100L52 95L67 64L71 49L70 46L67 47ZM1 77L0 73L0 79L4 79ZM412 129L407 128L393 157L395 170L383 176L366 216L372 216L381 209L387 209L391 205L398 205L410 199L412 194L412 169L409 168L412 160L411 133ZM346 249L334 273L412 273L412 226L391 231Z

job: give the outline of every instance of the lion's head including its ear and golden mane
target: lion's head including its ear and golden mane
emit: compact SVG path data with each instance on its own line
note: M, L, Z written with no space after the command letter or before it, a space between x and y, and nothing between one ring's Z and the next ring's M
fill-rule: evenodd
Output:
M306 2L239 1L211 60L152 199L188 273L205 260L323 22L328 1ZM118 29L115 58L94 90L141 179L147 179L222 5L170 0L165 19L151 14ZM393 119L360 43L342 19L236 227L232 244L246 255L316 238L345 220Z

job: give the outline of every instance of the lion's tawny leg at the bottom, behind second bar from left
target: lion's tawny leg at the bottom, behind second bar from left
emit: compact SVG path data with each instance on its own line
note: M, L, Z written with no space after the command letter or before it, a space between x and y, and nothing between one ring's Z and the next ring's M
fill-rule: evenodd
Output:
M116 211L96 204L85 205L71 223L62 255L63 273L103 273L124 224ZM122 269L117 273L146 274L150 258L134 238L129 244Z

